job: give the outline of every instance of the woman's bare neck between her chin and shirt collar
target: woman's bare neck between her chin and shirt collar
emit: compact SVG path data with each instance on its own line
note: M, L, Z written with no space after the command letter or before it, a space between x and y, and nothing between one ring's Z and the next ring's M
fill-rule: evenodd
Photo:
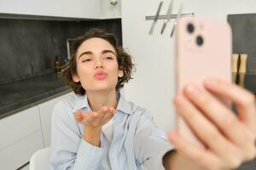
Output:
M116 90L112 91L86 91L88 103L90 105L91 111L98 111L102 106L112 106L116 109L118 100L116 99Z

